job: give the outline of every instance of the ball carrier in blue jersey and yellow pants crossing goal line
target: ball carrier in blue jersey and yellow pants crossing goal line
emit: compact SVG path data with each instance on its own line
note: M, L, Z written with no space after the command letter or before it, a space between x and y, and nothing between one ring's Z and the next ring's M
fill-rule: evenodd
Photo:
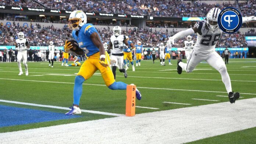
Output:
M89 58L83 62L74 84L74 102L71 110L65 115L81 114L79 101L82 96L82 84L97 70L100 71L107 87L111 90L126 90L126 83L115 82L114 75L109 67L109 55L104 50L99 33L92 24L86 24L87 18L83 11L71 12L68 27L72 29L72 37L79 47L73 46L70 41L65 42L65 51L75 55L86 54ZM74 43L75 44L75 43ZM141 100L141 93L136 89L136 98Z

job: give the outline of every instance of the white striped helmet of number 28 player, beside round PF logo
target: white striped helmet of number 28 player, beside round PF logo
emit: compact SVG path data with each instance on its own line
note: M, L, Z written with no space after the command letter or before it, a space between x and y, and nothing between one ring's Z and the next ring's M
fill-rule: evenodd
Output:
M212 8L206 16L206 25L209 29L214 30L218 28L218 15L220 8Z

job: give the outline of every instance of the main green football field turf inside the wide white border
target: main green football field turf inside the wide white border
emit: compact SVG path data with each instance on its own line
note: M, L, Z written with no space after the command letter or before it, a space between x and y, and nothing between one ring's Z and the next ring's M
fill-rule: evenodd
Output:
M175 70L177 60L171 62L173 65L160 66L159 61L156 61L155 64L152 61L142 61L141 66L135 67L135 72L132 72L130 66L127 79L122 73L117 72L117 81L127 84L134 83L141 91L142 100L137 100L136 106L158 108L136 108L136 114L228 101L220 74L208 64L200 63L192 73L183 71L181 75L178 75ZM60 62L55 62L54 68L50 68L48 64L48 62L28 62L29 76L25 76L25 72L24 75L18 76L16 62L0 63L0 100L70 107L73 102L75 73L79 71L79 67L61 66ZM22 67L25 71L23 65ZM239 91L243 99L256 97L256 59L232 59L227 65L227 69L234 91ZM89 80L86 80L84 84L80 101L81 109L125 114L126 91L108 89L104 85L99 71ZM192 98L216 101L193 100ZM0 102L0 105L40 109L63 114L67 112L62 109L6 102ZM1 127L0 133L110 117L113 116L83 112L80 118Z

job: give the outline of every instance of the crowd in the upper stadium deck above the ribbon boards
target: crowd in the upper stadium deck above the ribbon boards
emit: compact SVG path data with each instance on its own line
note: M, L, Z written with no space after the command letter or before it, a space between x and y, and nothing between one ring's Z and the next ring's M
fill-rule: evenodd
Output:
M38 0L45 7L61 10L84 10L86 12L104 12L118 14L150 15L158 17L203 17L213 8L241 8L243 17L256 14L256 1L241 3L223 2L209 4L201 1L180 0ZM1 0L0 4L25 7L43 7L33 0ZM248 8L250 11L248 11ZM175 11L174 11L175 10Z

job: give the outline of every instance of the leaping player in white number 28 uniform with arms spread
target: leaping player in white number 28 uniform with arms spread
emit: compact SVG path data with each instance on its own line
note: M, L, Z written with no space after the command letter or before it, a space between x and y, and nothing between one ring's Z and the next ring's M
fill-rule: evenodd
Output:
M223 31L218 27L218 14L220 13L219 8L212 8L207 16L206 20L199 21L196 23L195 27L183 30L176 33L174 36L170 37L167 44L173 43L176 39L181 39L182 37L192 35L197 33L198 37L196 44L192 51L192 54L187 63L183 63L182 60L178 60L177 72L182 73L182 69L186 72L192 72L199 62L205 60L209 65L215 68L221 74L223 83L225 84L228 98L230 103L234 103L240 96L239 93L234 93L231 88L230 77L227 72L226 65L220 55L215 51L216 43L218 42ZM242 23L255 21L254 16L245 18Z

